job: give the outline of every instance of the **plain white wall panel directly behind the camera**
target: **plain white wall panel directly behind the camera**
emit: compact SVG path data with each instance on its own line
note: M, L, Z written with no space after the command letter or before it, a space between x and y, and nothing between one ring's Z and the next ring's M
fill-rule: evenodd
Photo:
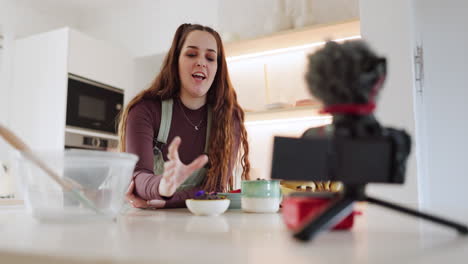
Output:
M407 204L418 203L415 149L413 7L408 0L360 0L361 35L376 52L387 57L388 76L377 104L377 118L385 126L404 128L413 138L406 183L372 185L369 193Z

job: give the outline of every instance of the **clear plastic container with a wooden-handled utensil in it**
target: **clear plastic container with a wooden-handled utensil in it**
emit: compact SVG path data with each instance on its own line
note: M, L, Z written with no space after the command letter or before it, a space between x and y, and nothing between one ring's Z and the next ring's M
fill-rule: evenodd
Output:
M21 153L17 174L27 210L39 220L74 221L114 218L122 209L124 195L138 157L128 153L94 150L36 152L62 179L79 186L99 210L83 207L42 169Z

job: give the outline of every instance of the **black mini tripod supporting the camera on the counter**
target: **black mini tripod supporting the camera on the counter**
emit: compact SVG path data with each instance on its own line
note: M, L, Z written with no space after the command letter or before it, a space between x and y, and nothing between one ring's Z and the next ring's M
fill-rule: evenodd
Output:
M352 205L357 201L367 201L385 208L393 209L415 217L432 221L447 227L455 228L460 234L467 235L468 227L453 221L449 221L434 215L422 213L417 210L386 202L365 194L365 185L346 185L342 194L336 195L330 201L330 205L318 216L307 219L305 225L294 233L294 237L301 241L313 239L320 231L333 227L352 211Z

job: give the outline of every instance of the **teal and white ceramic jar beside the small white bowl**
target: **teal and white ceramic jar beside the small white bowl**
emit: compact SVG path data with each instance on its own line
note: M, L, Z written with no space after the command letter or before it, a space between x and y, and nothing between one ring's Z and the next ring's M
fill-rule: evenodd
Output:
M279 180L242 181L242 210L275 213L281 203Z

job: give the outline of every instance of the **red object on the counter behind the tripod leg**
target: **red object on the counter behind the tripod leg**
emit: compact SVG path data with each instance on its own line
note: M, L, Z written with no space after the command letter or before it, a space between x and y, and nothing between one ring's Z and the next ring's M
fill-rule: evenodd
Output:
M283 220L289 229L297 229L304 220L310 219L312 215L317 215L328 206L329 199L304 196L286 197L282 203ZM351 229L354 224L354 215L357 212L351 212L340 223L333 227L333 230Z

